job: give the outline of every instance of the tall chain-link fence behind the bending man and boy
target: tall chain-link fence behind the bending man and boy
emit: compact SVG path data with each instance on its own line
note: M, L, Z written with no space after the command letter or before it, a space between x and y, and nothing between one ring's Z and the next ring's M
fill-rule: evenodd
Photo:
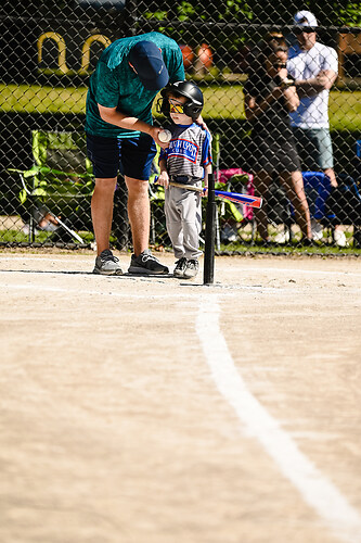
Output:
M317 21L307 13L294 21L299 10ZM219 188L263 198L257 213L219 202L217 250L360 253L357 2L5 0L0 24L1 244L93 242L89 76L114 40L159 31L179 43L186 78L204 93ZM156 111L154 118L165 122ZM169 247L162 189L151 184L150 198L151 242ZM112 232L119 249L131 243L126 206L119 176Z

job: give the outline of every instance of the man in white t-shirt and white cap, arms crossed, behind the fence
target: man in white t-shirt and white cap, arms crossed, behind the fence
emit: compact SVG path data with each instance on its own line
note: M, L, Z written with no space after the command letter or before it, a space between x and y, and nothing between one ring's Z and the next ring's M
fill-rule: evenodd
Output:
M294 25L297 43L289 48L287 71L295 78L300 98L297 110L289 113L297 150L307 169L324 172L332 186L337 187L328 121L330 89L338 72L337 53L317 41L318 22L310 11L298 11ZM320 228L312 222L313 239L320 239ZM346 244L339 229L335 230L335 241Z

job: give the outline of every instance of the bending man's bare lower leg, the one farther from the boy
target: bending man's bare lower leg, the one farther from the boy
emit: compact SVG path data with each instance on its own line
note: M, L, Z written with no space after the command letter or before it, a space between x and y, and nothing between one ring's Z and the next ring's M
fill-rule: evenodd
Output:
M116 177L112 179L95 178L95 188L91 199L91 217L98 255L105 249L109 249L116 180Z

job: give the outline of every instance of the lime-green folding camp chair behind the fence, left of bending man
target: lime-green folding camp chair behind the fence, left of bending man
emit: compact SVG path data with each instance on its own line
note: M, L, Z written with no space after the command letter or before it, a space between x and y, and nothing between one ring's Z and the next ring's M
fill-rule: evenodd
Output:
M36 218L39 222L41 217L52 217L53 224L64 232L59 239L75 238L83 243L75 228L87 228L93 191L85 134L33 130L31 136L33 167L9 169L17 173L22 181L20 201L29 212L29 241L35 240Z

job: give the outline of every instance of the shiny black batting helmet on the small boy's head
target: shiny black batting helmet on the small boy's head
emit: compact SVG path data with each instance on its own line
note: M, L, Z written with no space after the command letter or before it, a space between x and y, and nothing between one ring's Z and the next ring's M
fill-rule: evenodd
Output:
M176 97L182 96L186 98L186 102L183 104L183 111L185 115L195 121L203 110L203 92L194 83L191 81L176 81L165 87L160 94L162 98L157 100L156 111L163 113L166 116L170 115L170 108L168 101L168 94L172 93Z

